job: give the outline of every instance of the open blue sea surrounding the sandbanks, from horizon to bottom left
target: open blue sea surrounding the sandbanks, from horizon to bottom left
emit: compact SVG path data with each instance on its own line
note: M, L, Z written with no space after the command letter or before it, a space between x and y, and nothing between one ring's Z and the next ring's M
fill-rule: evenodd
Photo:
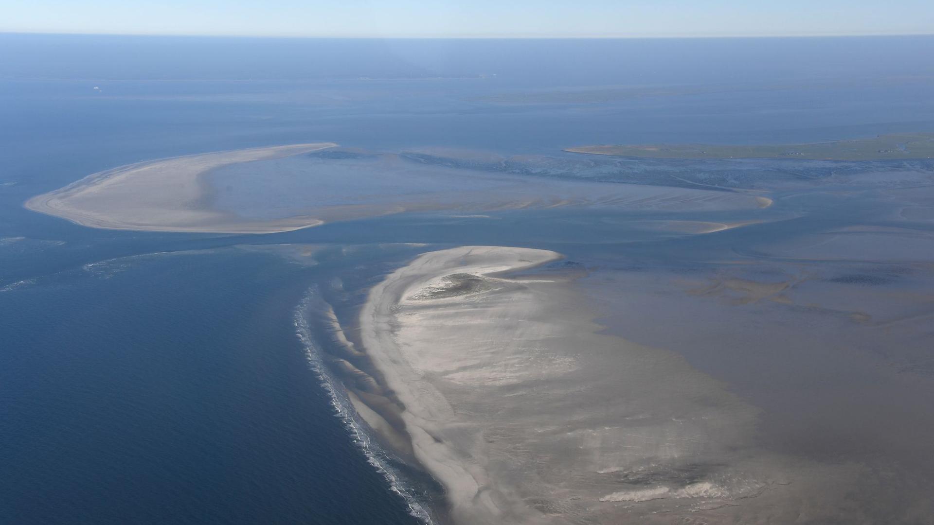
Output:
M334 417L293 322L310 286L391 263L231 247L585 240L529 216L110 232L28 197L124 163L318 140L559 154L932 132L932 54L931 37L0 35L0 523L416 523ZM531 101L495 100L517 95Z

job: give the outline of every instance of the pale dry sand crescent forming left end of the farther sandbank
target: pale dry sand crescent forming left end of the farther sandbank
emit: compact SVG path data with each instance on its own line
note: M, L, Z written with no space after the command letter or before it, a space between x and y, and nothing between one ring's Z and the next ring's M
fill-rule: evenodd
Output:
M234 163L276 159L332 148L336 144L296 144L188 155L120 166L84 177L23 206L84 226L151 232L267 234L316 226L313 217L255 220L209 206L209 171Z

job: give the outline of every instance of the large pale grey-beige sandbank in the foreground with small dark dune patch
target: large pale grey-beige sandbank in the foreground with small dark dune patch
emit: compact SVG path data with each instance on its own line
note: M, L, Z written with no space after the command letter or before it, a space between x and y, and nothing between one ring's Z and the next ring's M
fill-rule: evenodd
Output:
M753 450L757 410L677 355L599 333L572 282L503 274L559 257L425 253L361 310L406 452L444 486L452 521L792 522L819 515L809 483L845 490Z

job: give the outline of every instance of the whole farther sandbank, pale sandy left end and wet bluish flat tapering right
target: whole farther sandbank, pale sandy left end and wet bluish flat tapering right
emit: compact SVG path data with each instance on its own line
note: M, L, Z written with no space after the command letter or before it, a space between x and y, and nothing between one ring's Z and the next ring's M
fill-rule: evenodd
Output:
M413 154L301 155L333 146L300 144L135 163L84 177L24 206L94 228L266 234L405 212L480 218L517 209L701 212L769 204L744 192L484 171L487 164L463 159L452 167Z

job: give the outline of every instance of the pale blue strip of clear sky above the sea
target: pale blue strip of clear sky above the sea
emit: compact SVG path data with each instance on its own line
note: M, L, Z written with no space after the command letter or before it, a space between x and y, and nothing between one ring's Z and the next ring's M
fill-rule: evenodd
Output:
M934 1L0 0L0 32L364 37L930 35Z

